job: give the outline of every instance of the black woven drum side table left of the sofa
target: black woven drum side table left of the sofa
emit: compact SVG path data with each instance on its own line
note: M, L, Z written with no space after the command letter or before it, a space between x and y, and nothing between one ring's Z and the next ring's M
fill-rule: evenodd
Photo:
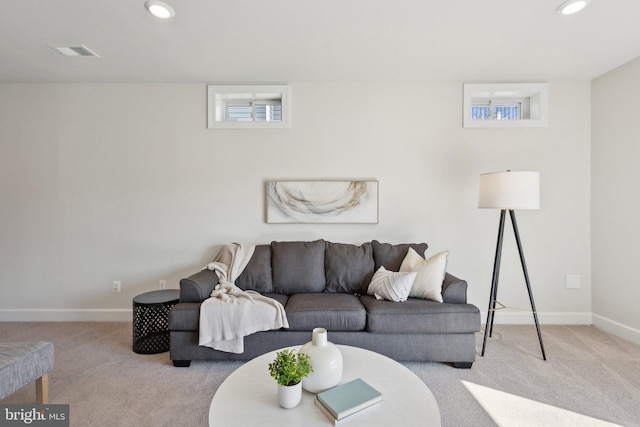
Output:
M133 351L155 354L169 351L169 311L180 300L177 289L140 294L133 299Z

